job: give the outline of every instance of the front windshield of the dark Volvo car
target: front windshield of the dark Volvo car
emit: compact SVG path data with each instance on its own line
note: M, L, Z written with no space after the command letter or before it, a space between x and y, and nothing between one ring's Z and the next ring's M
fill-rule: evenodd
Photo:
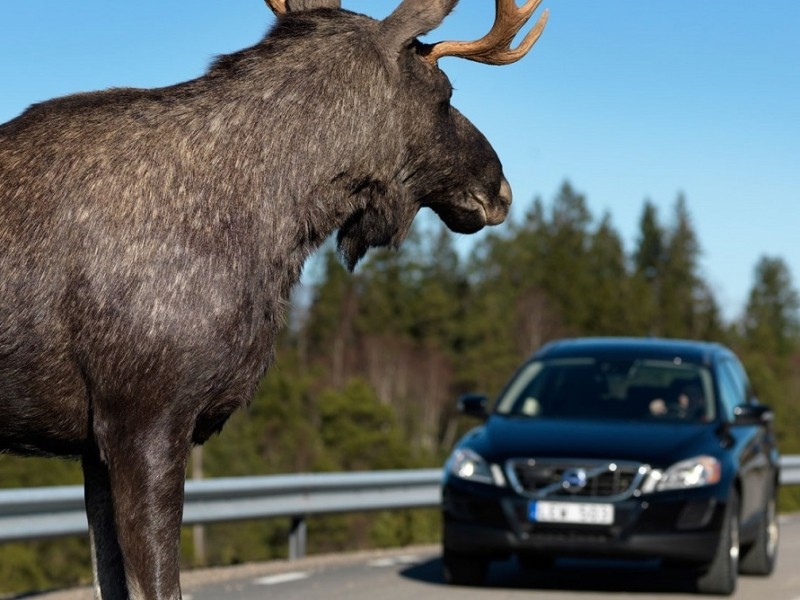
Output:
M570 358L523 367L497 402L502 415L698 423L714 419L711 374L674 360Z

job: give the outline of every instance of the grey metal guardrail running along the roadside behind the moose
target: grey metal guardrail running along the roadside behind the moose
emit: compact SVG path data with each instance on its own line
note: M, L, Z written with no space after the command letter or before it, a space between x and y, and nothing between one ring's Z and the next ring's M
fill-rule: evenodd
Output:
M230 477L186 482L184 525L291 517L289 555L305 554L312 515L439 506L440 469ZM800 455L781 459L800 485ZM83 486L0 490L0 542L85 535Z

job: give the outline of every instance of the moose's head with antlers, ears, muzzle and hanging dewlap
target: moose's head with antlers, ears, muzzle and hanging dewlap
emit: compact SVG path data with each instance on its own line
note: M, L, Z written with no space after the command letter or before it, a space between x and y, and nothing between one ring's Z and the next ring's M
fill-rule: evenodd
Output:
M540 0L522 8L514 0L498 0L494 26L478 41L420 43L418 36L437 27L456 3L406 1L383 21L373 21L337 10L340 2L333 0L267 0L280 20L273 38L286 35L294 44L282 61L295 65L294 56L303 56L305 68L325 65L332 75L316 92L323 113L310 117L316 127L337 116L357 121L347 128L359 134L356 147L345 145L341 152L354 163L367 162L360 170L368 175L342 180L346 168L340 162L334 177L351 190L381 196L339 228L339 248L350 268L369 247L397 246L420 207L433 209L458 233L501 223L508 212L511 188L500 161L480 131L451 106L452 86L438 61L455 56L493 65L515 62L539 38L547 12L514 49L514 37ZM324 57L316 56L322 52ZM298 76L308 81L301 70ZM327 101L326 93L336 100ZM347 114L332 115L333 107Z

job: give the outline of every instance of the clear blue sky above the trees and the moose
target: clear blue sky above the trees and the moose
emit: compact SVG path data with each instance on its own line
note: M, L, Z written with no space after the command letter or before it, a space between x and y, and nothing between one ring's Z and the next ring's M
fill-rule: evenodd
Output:
M376 18L396 4L344 0ZM568 179L630 251L644 200L666 223L683 193L726 317L741 312L762 255L783 258L800 286L800 2L542 6L550 23L519 63L441 61L454 105L503 161L515 214ZM493 12L462 0L431 39L479 37ZM271 22L262 0L4 0L0 122L54 96L199 76Z

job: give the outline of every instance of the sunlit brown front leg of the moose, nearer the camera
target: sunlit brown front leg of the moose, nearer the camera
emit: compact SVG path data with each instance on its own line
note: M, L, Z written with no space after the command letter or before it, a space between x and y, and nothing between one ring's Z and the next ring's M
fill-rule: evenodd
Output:
M131 600L179 600L180 526L190 444L164 431L104 444ZM103 596L105 600L105 596Z

